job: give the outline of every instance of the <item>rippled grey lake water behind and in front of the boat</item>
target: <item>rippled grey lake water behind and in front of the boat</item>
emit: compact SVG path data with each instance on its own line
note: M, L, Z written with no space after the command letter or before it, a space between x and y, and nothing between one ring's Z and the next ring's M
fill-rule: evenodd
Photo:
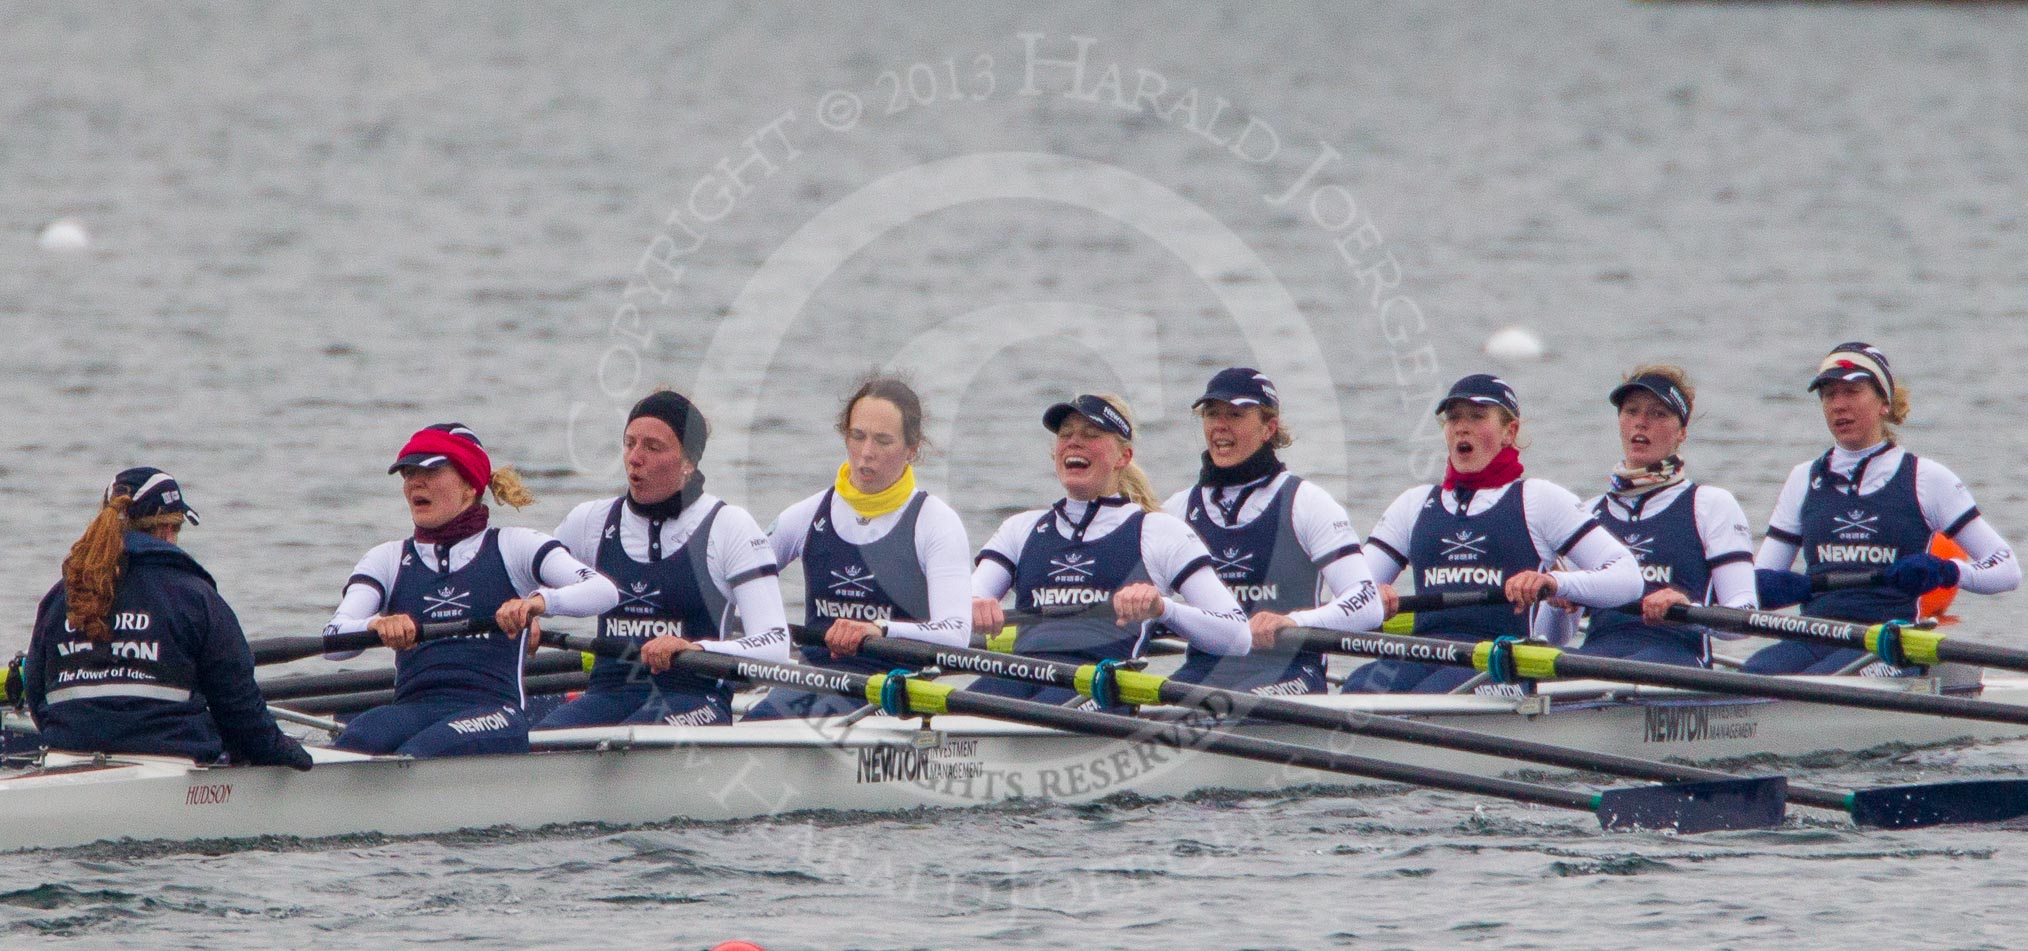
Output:
M306 633L400 533L383 466L420 424L479 428L541 495L507 517L550 527L612 485L623 406L677 383L718 424L712 485L765 521L829 479L834 399L870 367L933 395L925 479L975 539L1051 497L1046 399L1128 393L1176 487L1186 404L1239 361L1302 397L1300 468L1365 525L1428 464L1442 381L1505 373L1529 468L1588 489L1614 373L1675 359L1701 385L1691 464L1758 519L1823 444L1807 369L1870 339L1914 387L1906 442L2028 525L2012 4L4 20L0 649L120 466L185 481L189 547L251 633ZM1079 43L1081 71L1051 65ZM91 249L37 249L57 217ZM1503 324L1547 357L1482 357ZM2016 604L1959 631L2012 637ZM1316 793L16 856L0 921L91 947L2006 947L2024 852Z

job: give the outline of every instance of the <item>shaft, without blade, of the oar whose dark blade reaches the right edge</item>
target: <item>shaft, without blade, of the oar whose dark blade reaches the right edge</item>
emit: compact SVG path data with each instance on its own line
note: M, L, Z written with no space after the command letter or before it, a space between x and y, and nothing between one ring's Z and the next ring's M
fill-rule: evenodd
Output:
M811 633L809 629L791 627L791 631L799 643L823 643L823 637ZM984 639L973 639L973 647L977 645L984 645ZM1099 667L1091 663L1079 665L1038 657L1010 657L1006 653L943 647L900 637L870 637L860 643L860 653L880 661L904 663L913 667L941 667L957 673L977 673L986 677L1067 687L1087 698L1107 693L1105 698L1099 698L1107 704L1174 704L1199 708L1221 718L1237 716L1274 720L1296 726L1312 726L1318 730L1379 736L1420 746L1541 762L1562 769L1586 769L1616 777L1651 779L1657 783L1734 783L1740 801L1748 803L1758 803L1760 797L1772 797L1777 801L1783 797L1783 777L1742 779L1714 769L1679 766L1675 762L1643 760L1612 752L1588 752L1570 746L1515 740L1420 720L1373 716L1363 710L1328 710L1282 698L1263 698L1257 693L1182 683L1134 669L1111 669L1101 673ZM1829 789L1801 789L1795 785L1789 785L1787 789L1791 801L1845 811L1845 793Z

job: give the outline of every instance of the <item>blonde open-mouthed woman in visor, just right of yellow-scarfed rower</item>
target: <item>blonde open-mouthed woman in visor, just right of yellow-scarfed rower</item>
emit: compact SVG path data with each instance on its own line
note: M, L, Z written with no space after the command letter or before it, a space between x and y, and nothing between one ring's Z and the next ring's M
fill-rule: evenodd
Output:
M1148 620L1160 620L1190 647L1243 655L1251 647L1245 612L1219 580L1211 552L1190 527L1154 501L1148 474L1134 464L1134 420L1126 401L1079 395L1051 406L1042 426L1057 434L1053 458L1065 497L1048 509L1006 519L971 570L973 631L998 635L1000 598L1014 590L1014 653L1055 661L1140 657ZM1172 600L1176 594L1182 602ZM1113 616L1032 620L1036 612L1111 604ZM971 689L1061 704L1075 693L982 677Z

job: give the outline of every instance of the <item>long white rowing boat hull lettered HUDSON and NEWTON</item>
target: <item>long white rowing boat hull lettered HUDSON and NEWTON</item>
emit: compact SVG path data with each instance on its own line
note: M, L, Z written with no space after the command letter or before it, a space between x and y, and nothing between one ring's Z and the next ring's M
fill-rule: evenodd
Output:
M1829 679L1829 677L1799 677ZM1837 677L1876 689L1927 679ZM2028 726L1740 700L1598 681L1541 683L1531 698L1318 696L1334 710L1405 716L1501 736L1649 758L1799 756L1959 738L2006 740ZM2028 677L1991 677L1983 700L2028 704ZM1160 714L1154 712L1154 714ZM1503 775L1517 762L1314 728L1235 732L1365 756ZM1079 803L1115 793L1245 793L1345 777L1194 750L1119 742L969 716L868 716L732 728L541 730L527 756L412 760L316 748L316 769L197 766L160 756L49 752L0 779L0 850L101 839L221 839L444 833L552 823L724 821L813 809L904 811L1008 799Z

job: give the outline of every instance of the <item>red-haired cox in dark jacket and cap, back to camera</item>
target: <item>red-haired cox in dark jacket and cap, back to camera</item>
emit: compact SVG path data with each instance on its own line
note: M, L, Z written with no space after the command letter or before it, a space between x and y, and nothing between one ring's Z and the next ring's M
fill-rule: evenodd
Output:
M34 612L22 679L43 742L310 769L262 702L233 608L176 547L185 523L197 511L160 468L128 468L105 489Z

